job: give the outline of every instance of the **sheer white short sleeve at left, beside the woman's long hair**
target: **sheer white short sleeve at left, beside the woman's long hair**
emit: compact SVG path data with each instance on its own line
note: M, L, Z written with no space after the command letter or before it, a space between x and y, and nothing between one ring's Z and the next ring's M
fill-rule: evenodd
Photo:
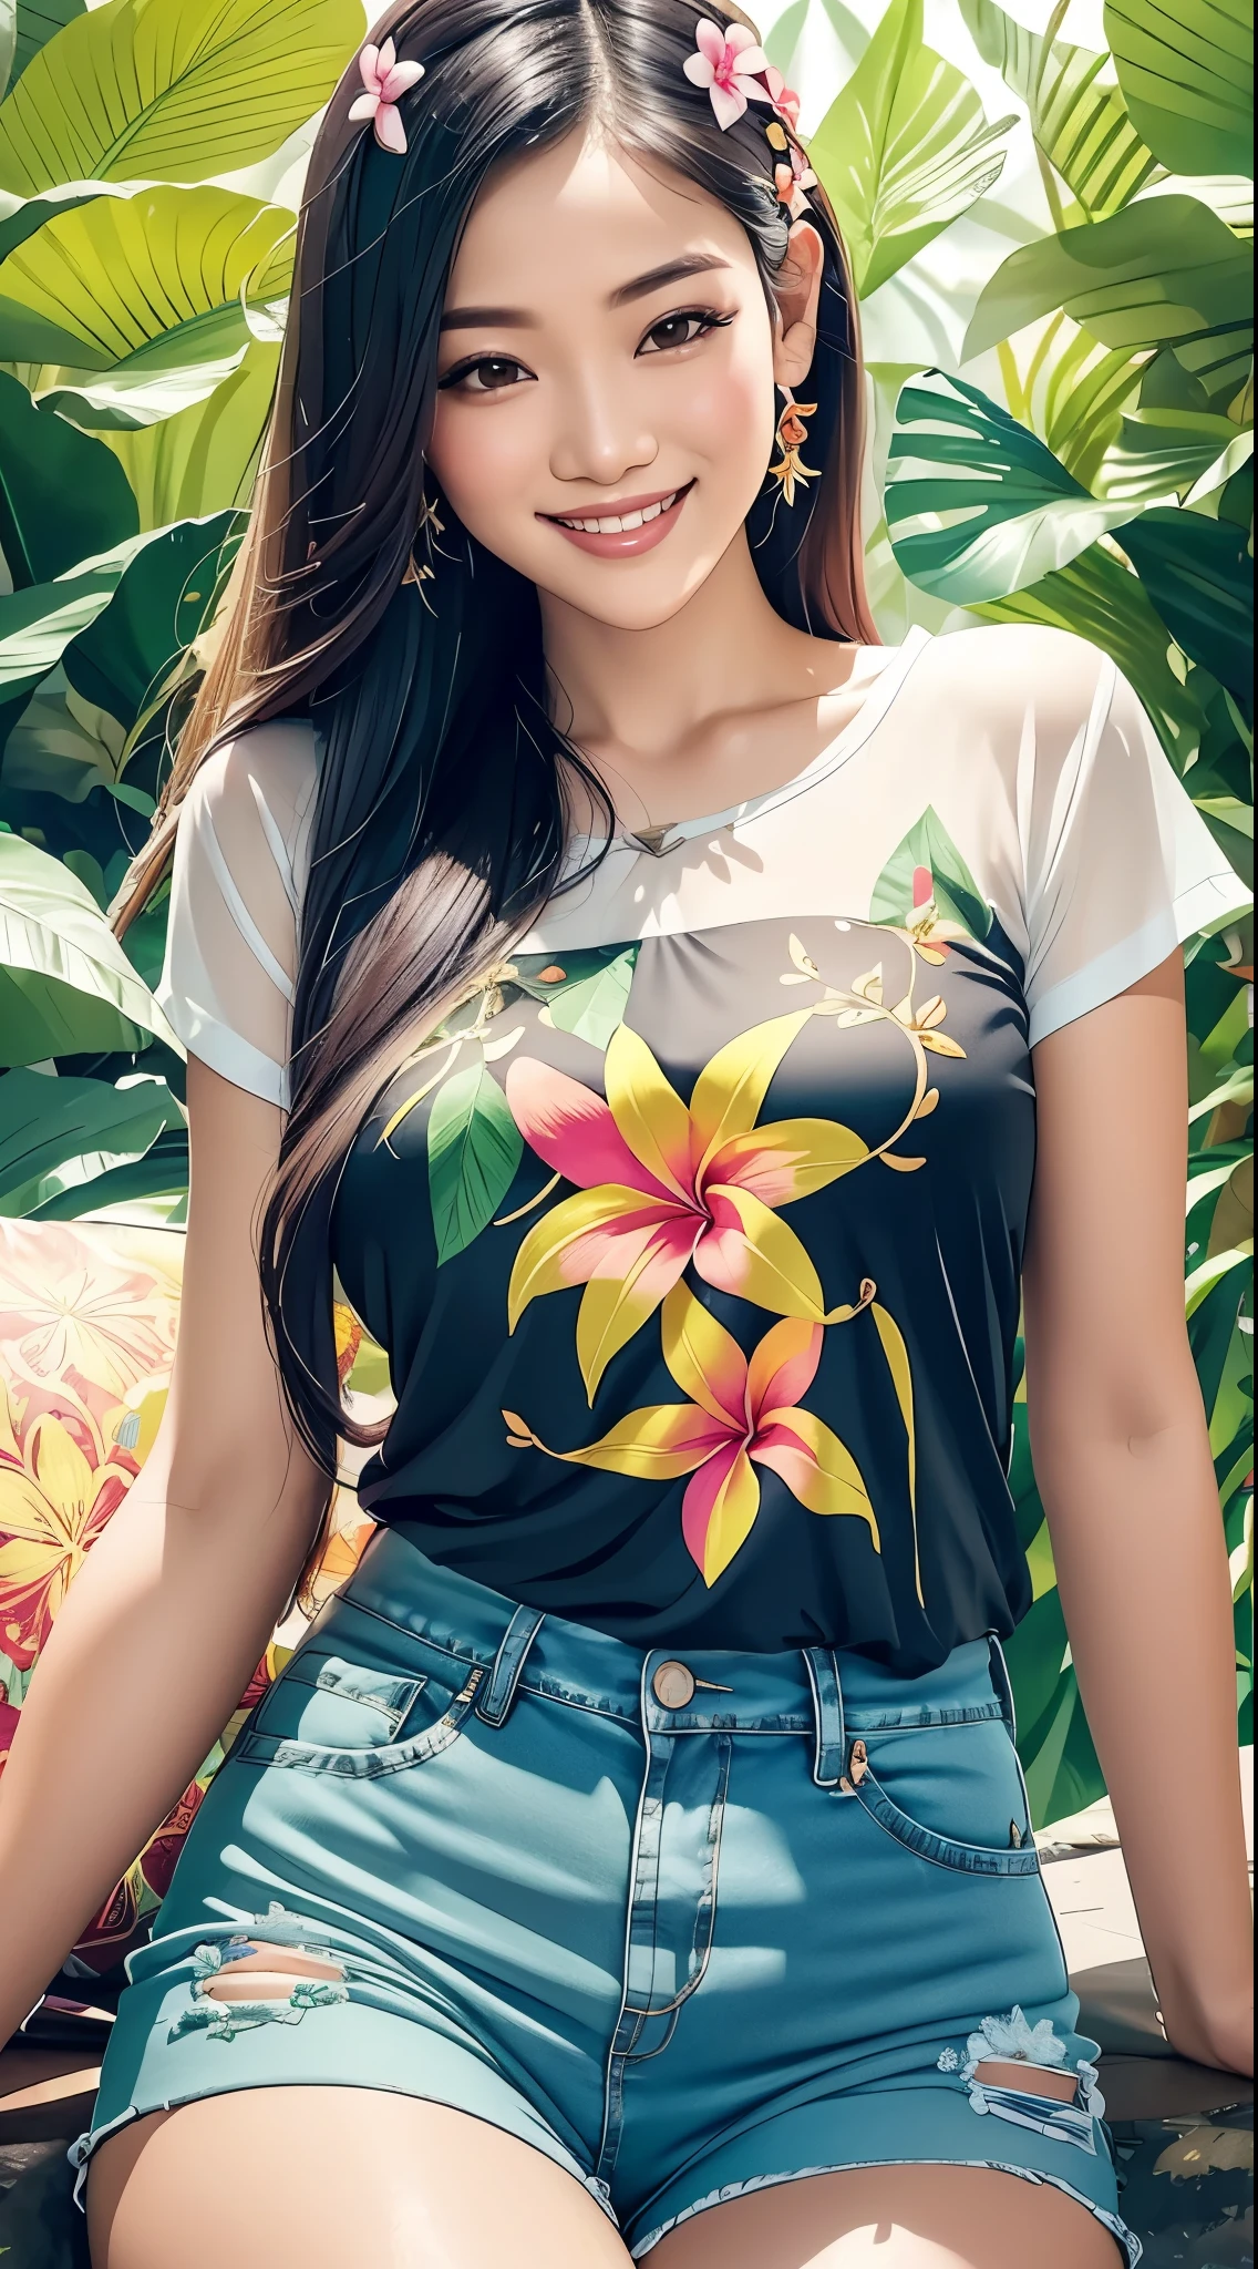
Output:
M313 803L315 740L299 719L202 765L179 810L156 992L188 1055L281 1110Z

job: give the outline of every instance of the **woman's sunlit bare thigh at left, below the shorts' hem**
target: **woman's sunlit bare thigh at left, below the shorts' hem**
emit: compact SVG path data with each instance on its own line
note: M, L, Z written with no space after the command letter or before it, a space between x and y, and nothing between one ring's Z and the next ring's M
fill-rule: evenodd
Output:
M93 2269L628 2269L542 2151L372 2087L238 2087L150 2112L88 2171Z

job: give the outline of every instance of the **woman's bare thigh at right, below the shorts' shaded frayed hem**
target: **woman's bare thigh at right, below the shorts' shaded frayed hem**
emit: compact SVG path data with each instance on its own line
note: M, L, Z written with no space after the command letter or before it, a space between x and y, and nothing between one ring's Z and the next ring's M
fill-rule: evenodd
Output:
M1122 2269L1086 2205L993 2167L852 2167L728 2199L651 2269Z

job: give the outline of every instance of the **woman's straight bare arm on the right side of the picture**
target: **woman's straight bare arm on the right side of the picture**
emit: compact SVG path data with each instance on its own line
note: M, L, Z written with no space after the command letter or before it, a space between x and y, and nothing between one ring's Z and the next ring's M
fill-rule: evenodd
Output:
M1167 2035L1253 2072L1231 1579L1183 1321L1183 960L1034 1048L1027 1416Z

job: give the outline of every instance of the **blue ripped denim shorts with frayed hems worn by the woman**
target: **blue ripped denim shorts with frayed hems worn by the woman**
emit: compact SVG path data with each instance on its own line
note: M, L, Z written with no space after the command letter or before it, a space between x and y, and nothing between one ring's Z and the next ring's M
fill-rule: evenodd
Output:
M233 2001L258 1942L315 1974ZM644 1654L381 1529L127 1974L79 2199L127 2119L311 2083L519 2135L635 2260L723 2199L904 2160L1052 2183L1140 2258L995 1638L913 1679L827 1647Z

